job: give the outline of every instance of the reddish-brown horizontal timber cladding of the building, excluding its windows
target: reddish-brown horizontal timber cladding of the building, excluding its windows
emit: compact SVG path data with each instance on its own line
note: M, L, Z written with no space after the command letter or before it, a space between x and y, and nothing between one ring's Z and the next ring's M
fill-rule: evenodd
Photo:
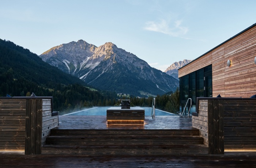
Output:
M178 77L212 64L212 97L251 97L256 94L256 26L178 70ZM227 66L227 60L231 65Z

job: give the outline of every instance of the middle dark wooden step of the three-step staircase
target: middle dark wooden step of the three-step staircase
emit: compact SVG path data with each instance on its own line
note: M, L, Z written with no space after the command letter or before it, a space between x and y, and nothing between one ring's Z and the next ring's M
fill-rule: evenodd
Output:
M199 136L168 136L154 135L105 135L105 136L50 136L46 144L59 145L87 145L87 144L203 144Z

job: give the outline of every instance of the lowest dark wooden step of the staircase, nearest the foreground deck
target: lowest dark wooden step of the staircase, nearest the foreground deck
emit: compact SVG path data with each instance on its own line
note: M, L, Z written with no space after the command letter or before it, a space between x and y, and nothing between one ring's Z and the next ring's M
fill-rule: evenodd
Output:
M204 145L45 145L42 154L208 154Z

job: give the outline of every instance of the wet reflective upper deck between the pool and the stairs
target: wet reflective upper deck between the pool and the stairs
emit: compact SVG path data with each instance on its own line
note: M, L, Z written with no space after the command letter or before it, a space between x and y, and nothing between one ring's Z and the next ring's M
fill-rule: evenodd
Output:
M144 125L108 125L106 116L60 115L56 129L192 129L192 118L184 116L145 116Z

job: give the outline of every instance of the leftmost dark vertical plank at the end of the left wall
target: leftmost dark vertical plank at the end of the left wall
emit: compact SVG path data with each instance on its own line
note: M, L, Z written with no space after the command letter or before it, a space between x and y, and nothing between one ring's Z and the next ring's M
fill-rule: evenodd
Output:
M25 154L30 154L31 99L26 99Z

